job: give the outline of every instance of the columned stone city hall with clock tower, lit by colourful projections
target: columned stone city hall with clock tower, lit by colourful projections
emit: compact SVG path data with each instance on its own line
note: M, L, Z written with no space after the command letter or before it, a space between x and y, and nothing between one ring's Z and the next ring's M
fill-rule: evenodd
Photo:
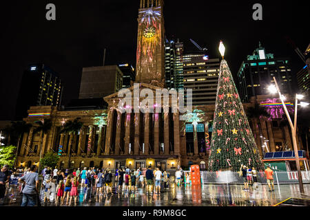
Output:
M138 83L139 94L143 89L150 89L155 94L156 89L165 87L163 1L141 0L140 6L135 83ZM128 89L134 94L134 87ZM23 119L25 122L34 124L37 120L49 118L52 128L43 135L43 140L39 133L33 133L34 127L23 135L17 166L39 164L40 154L52 151L59 154L61 168L96 166L114 170L120 166L143 168L150 165L173 172L180 166L199 164L202 170L207 169L214 104L193 107L192 113L185 113L186 120L180 120L182 114L172 111L172 96L169 96L169 102L163 103L169 112L161 113L136 113L134 106L127 103L127 111L121 112L118 93L102 98L107 102L107 109L30 107L28 118ZM267 97L259 98L265 100ZM142 102L143 98L140 96L134 101ZM245 111L254 107L255 102L252 99L244 104ZM154 105L149 108L152 107L158 107L155 98ZM81 131L61 133L65 123L76 118L83 122ZM254 119L250 124L260 155L264 151L277 151L276 143L283 147L292 146L289 129L280 129L276 126L278 122L273 120L257 120L261 129L254 126ZM262 136L269 140L264 147Z

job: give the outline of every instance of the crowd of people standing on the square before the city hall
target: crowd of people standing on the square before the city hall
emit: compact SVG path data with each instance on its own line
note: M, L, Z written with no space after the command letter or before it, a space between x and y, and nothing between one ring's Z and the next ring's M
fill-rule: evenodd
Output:
M254 190L258 188L258 172L254 167L248 168L241 165L240 175L245 185L244 190L249 190L249 186L253 186ZM269 190L274 190L273 170L270 166L265 170L265 176ZM6 188L10 188L10 185L19 186L17 189L23 195L21 206L35 206L36 204L40 206L41 202L50 203L53 184L54 190L56 189L53 202L56 205L60 203L60 205L71 206L74 201L74 206L76 206L79 190L84 188L95 188L95 196L107 197L121 192L134 194L138 188L143 188L146 194L161 194L162 185L165 189L169 188L170 180L174 181L177 186L190 184L189 173L185 173L182 168L176 170L174 179L172 179L166 170L159 168L153 170L152 166L142 169L116 168L113 174L110 168L85 167L69 170L45 166L41 171L41 177L39 181L39 173L35 165L14 171L9 170L7 165L3 166L0 170L0 199L3 200ZM43 198L40 197L42 194Z

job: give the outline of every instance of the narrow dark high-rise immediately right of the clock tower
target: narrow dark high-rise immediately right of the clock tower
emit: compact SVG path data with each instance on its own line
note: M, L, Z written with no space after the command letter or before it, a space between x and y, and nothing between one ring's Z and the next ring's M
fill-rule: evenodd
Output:
M183 43L165 41L165 80L167 89L184 89Z

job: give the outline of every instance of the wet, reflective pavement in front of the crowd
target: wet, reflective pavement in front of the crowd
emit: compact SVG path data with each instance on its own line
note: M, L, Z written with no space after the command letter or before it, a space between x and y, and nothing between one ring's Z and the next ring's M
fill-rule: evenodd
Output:
M116 192L113 195L96 195L96 188L79 188L77 206L273 206L281 201L293 198L310 198L310 184L304 184L304 195L300 195L298 184L282 184L280 188L269 192L265 184L257 189L250 186L242 190L241 184L208 184L204 186L176 186L171 183L168 189L161 188L161 194L146 194L145 188L135 192ZM50 203L42 206L65 206L54 203L56 187L52 184ZM43 199L44 192L41 192ZM7 190L3 206L20 206L21 194L18 187ZM74 206L72 199L71 206Z

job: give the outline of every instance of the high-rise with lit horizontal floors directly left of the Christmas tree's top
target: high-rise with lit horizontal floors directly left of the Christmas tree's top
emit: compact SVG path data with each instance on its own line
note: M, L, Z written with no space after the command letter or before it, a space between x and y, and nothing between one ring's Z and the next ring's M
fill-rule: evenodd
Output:
M205 61L205 54L184 54L184 89L193 89L193 105L214 104L220 72L220 59Z

